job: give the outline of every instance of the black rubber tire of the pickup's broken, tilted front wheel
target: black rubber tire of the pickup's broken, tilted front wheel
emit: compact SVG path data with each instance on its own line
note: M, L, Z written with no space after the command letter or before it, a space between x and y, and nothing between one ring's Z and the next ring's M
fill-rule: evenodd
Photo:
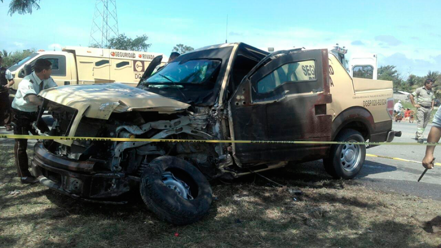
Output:
M184 181L194 199L185 199L167 187L162 180L164 172L172 172ZM141 176L140 192L153 213L176 225L195 223L203 218L213 197L207 178L189 162L173 156L161 156L149 163Z

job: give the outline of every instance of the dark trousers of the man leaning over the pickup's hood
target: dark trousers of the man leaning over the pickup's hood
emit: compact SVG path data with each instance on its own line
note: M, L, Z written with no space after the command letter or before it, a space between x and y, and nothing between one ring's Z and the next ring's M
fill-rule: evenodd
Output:
M37 112L24 112L12 109L14 134L29 135L32 130L32 123L37 120ZM27 159L27 139L15 139L14 158L19 177L30 176L29 162Z

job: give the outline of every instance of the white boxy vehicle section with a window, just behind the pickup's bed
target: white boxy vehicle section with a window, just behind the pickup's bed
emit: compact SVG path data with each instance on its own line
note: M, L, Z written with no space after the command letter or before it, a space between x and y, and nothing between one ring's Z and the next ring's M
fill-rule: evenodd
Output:
M377 54L354 54L351 57L349 70L352 77L377 79Z

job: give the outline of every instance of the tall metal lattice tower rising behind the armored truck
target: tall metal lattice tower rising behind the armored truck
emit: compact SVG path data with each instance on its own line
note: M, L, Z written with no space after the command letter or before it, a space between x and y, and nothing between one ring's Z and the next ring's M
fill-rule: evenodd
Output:
M112 37L118 37L116 0L96 0L89 45L106 48Z

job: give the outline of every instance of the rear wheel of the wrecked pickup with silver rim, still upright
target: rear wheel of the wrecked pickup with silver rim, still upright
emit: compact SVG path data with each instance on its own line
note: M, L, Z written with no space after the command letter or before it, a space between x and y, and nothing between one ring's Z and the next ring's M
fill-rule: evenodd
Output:
M339 133L335 141L365 142L360 132L345 129ZM332 145L329 157L323 159L328 174L334 178L351 179L362 169L366 158L366 145L342 144Z

